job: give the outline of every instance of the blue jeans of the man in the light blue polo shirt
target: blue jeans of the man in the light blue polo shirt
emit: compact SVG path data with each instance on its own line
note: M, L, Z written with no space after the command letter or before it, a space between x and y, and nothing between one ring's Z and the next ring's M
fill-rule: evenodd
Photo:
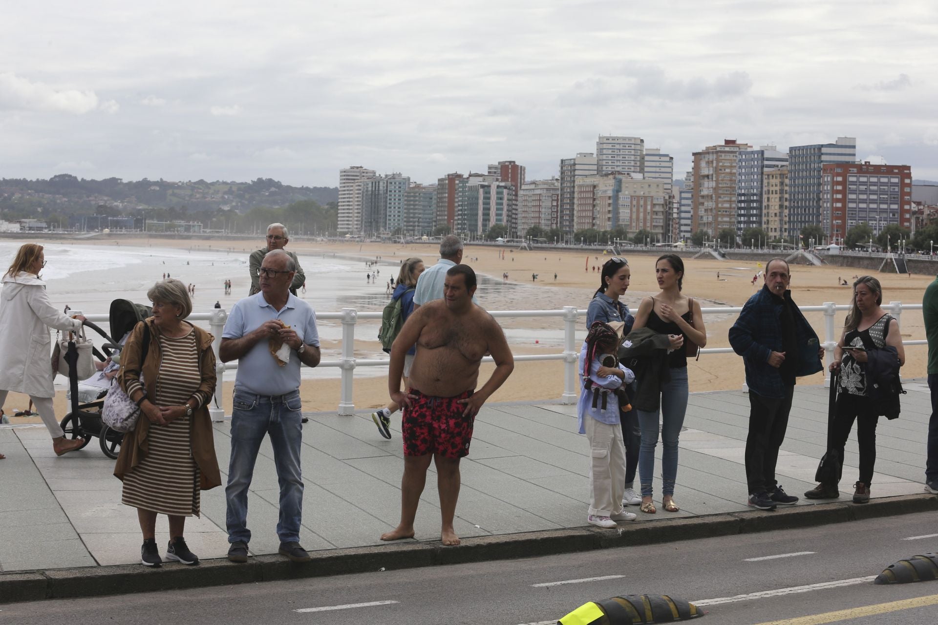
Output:
M277 535L281 543L299 542L303 513L303 475L299 466L303 444L301 408L298 391L275 396L234 392L232 456L225 488L229 543L250 543L248 488L265 434L270 436L274 448L274 465L280 482Z

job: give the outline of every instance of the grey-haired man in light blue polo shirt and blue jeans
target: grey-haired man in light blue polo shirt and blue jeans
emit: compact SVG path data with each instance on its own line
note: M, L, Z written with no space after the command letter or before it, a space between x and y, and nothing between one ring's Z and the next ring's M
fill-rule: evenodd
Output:
M299 543L303 510L299 367L301 362L319 365L320 351L315 311L290 293L295 272L295 261L286 252L268 252L258 269L261 292L234 305L221 334L221 362L238 361L225 488L228 559L233 562L248 561L248 489L265 435L270 436L280 481L280 554L295 562L310 560ZM287 349L275 355L280 346Z

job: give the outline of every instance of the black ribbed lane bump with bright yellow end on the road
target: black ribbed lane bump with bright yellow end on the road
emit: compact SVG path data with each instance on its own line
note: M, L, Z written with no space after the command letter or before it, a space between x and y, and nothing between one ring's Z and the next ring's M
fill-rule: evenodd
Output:
M600 602L583 603L558 625L634 625L637 623L671 623L676 620L702 617L693 603L668 595L626 595Z

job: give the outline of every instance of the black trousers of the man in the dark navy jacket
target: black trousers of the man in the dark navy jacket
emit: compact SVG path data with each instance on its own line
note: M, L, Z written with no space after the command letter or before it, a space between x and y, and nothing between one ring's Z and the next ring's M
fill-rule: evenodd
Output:
M749 436L746 437L746 482L749 495L771 493L779 485L775 466L779 447L788 429L794 384L785 387L785 396L764 397L749 389Z

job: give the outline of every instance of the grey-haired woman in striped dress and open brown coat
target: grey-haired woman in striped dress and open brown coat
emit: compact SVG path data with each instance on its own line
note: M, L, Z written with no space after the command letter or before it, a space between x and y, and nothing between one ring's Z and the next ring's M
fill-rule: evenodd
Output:
M130 333L121 350L119 377L142 414L124 436L114 475L124 482L123 503L137 509L144 532L143 564L162 563L157 514L169 516L166 559L198 564L183 539L186 517L199 515L201 490L221 484L208 415L215 391L212 335L185 321L192 303L179 280L161 280L146 296L153 302L153 317ZM144 324L150 342L141 362Z

